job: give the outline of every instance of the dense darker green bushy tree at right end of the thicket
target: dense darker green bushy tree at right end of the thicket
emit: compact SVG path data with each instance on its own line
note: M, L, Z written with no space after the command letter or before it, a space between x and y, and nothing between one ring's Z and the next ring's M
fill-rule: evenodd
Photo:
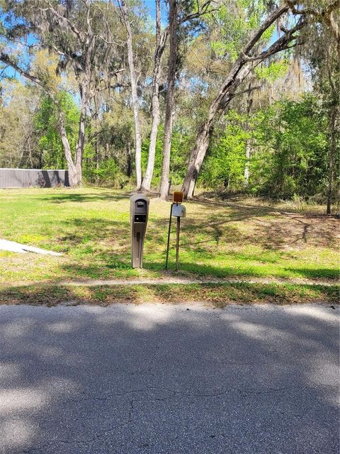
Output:
M280 99L259 112L256 122L252 189L276 199L324 192L327 117L319 100L312 94Z

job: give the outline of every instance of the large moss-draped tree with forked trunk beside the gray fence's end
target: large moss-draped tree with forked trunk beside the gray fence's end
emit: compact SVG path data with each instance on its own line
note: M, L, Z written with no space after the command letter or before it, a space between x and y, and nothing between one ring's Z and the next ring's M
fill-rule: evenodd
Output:
M47 0L5 0L3 11L11 20L4 21L1 27L7 43L7 47L1 45L2 62L40 85L58 105L56 93L60 87L51 87L49 81L40 77L40 74L30 72L29 65L25 67L12 52L13 43L25 44L26 35L31 35L35 43L28 45L30 50L40 46L55 52L59 57L57 71L62 72L69 67L77 79L81 106L74 155L67 138L64 114L62 109L59 109L59 130L69 170L69 182L71 186L77 186L81 184L89 103L96 90L101 89L103 81L111 81L119 72L114 43L101 35L102 10L95 8L90 0L66 3L58 1L53 4ZM5 23L10 25L5 26Z

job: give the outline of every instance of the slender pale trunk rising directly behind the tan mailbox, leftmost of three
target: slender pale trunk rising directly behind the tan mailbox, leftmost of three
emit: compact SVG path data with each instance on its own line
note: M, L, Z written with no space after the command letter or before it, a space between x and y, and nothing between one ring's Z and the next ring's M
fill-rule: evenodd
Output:
M123 20L127 31L126 44L128 47L128 63L130 70L130 82L131 82L131 96L132 96L132 110L133 119L135 123L135 165L136 165L136 189L139 190L142 184L142 138L140 135L140 115L138 106L137 96L137 77L135 72L135 63L133 62L133 50L132 50L132 31L130 21L128 18L128 7L125 0L120 1L121 11L123 13Z

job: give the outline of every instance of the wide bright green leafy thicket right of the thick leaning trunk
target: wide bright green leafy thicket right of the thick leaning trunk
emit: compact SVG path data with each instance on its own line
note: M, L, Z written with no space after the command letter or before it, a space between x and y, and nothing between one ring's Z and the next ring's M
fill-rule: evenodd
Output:
M239 109L241 110L241 109ZM322 200L327 182L327 114L312 94L279 100L250 116L229 109L225 131L214 135L199 182L217 192L250 192L272 199ZM244 155L251 138L249 185Z

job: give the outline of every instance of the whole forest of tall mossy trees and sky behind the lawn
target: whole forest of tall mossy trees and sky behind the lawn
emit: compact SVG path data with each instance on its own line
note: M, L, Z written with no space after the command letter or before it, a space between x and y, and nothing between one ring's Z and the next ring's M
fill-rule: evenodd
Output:
M339 200L339 1L1 0L0 167ZM336 205L334 210L339 209Z

